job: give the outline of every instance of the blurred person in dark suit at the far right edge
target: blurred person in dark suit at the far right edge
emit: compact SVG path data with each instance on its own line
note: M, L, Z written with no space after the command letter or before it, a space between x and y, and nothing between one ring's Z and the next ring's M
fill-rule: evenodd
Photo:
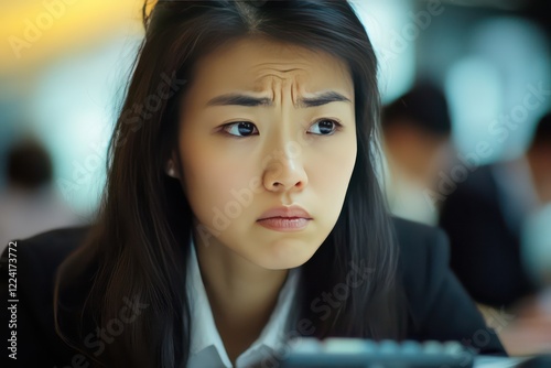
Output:
M539 121L525 155L477 167L442 205L440 225L451 238L452 269L478 303L508 307L537 291L529 274L531 266L522 264L521 239L527 239L527 247L536 243L528 239L541 239L533 232L540 230L533 229L547 230L545 227L531 226L532 231L527 235L527 220L537 224L534 216L542 216L538 214L549 203L550 113Z

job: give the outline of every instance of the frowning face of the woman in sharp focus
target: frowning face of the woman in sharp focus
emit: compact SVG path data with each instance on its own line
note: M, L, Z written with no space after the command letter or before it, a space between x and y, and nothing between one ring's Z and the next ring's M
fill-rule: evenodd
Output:
M197 63L181 111L180 178L197 246L272 270L307 261L338 218L356 161L346 65L240 40Z

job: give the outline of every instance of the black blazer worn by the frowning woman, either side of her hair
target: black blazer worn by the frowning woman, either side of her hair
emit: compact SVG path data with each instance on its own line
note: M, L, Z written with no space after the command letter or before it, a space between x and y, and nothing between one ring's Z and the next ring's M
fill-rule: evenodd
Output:
M484 320L449 268L449 245L442 230L395 219L401 251L401 273L409 302L408 338L458 340L480 354L505 355L495 332ZM17 243L18 360L2 348L2 367L79 367L77 353L56 335L53 286L58 264L80 242L86 228L52 230ZM0 285L8 295L8 250L2 255ZM1 321L10 316L2 307ZM2 328L7 331L7 328ZM3 335L2 342L7 343ZM8 351L9 353L9 351ZM73 361L73 362L72 362Z

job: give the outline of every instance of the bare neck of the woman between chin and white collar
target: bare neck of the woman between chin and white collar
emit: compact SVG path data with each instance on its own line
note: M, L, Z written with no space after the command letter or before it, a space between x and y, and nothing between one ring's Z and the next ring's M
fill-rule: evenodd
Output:
M233 362L260 335L288 270L267 270L218 241L194 237L197 261L216 327Z

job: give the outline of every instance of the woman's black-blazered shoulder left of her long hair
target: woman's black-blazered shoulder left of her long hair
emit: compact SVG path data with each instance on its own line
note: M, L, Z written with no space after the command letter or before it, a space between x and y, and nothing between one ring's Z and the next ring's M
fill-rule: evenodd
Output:
M1 256L0 284L3 297L8 299L8 286L15 279L17 356L23 366L65 366L75 356L55 333L54 284L60 264L78 248L87 230L87 227L64 228L17 239L9 243ZM9 274L9 271L15 272Z

